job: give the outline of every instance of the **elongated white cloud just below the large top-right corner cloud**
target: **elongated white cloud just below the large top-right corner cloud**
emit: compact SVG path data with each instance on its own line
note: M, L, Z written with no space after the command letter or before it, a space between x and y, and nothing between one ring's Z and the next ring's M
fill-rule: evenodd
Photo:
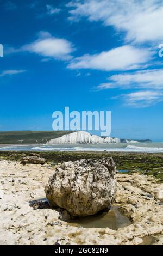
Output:
M68 64L68 68L104 71L138 69L142 64L151 60L152 56L153 52L147 49L124 45L99 54L85 54L74 58Z

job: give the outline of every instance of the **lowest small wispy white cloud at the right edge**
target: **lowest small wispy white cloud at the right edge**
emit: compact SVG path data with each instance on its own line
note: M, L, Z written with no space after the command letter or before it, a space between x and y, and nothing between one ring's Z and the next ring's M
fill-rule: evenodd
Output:
M127 106L149 107L163 101L163 93L155 91L140 91L121 95Z

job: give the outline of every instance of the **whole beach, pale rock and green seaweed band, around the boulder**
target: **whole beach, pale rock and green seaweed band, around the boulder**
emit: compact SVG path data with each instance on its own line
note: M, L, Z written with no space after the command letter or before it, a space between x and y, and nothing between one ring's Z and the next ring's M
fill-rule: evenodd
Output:
M163 244L161 153L41 152L45 165L20 164L30 154L0 153L1 245ZM70 220L66 211L49 206L44 188L58 164L110 155L117 166L117 193L109 212Z

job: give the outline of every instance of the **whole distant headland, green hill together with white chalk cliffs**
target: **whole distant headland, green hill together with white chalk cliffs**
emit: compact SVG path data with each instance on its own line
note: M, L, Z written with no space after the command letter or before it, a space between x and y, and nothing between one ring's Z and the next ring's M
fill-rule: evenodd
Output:
M121 139L100 137L86 131L2 131L0 144L103 144L141 143L150 139Z

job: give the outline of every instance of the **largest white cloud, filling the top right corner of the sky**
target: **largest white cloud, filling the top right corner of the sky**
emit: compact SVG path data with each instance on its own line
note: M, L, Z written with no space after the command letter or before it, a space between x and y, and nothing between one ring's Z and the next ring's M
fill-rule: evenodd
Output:
M101 21L104 26L126 32L127 41L162 41L162 0L73 0L67 6L71 8L70 20L87 17Z

